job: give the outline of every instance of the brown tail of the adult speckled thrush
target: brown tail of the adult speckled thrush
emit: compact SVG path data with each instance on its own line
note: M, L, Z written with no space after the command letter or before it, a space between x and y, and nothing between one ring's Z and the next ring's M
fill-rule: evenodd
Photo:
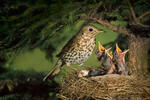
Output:
M62 60L58 60L54 68L43 78L43 81L53 78L60 72L60 68L63 66Z

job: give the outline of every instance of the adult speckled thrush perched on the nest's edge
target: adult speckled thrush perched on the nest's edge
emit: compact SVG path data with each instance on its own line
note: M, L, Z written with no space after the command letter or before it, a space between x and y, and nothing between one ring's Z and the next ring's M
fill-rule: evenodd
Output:
M80 31L63 47L57 55L58 61L54 68L44 77L44 81L53 78L60 71L63 65L70 64L83 65L92 54L96 44L96 34L102 33L102 30L95 26L83 26Z

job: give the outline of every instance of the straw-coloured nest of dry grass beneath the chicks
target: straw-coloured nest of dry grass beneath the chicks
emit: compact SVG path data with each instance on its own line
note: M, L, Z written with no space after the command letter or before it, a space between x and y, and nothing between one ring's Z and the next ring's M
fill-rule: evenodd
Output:
M150 100L150 76L79 78L73 73L64 77L58 96L65 100Z

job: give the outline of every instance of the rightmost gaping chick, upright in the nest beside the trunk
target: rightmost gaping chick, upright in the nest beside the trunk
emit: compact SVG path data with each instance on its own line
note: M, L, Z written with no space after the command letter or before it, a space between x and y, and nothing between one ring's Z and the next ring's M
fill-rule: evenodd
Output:
M125 63L125 54L129 51L125 50L122 52L122 50L119 48L118 44L116 44L116 50L113 54L113 62L117 69L117 74L123 74L126 75L126 63Z

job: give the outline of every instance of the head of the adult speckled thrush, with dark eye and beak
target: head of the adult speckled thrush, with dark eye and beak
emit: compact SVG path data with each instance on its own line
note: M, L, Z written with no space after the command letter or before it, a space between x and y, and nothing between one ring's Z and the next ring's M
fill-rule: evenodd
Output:
M81 29L81 32L83 35L95 36L96 34L102 33L104 31L96 28L93 25L86 25Z

